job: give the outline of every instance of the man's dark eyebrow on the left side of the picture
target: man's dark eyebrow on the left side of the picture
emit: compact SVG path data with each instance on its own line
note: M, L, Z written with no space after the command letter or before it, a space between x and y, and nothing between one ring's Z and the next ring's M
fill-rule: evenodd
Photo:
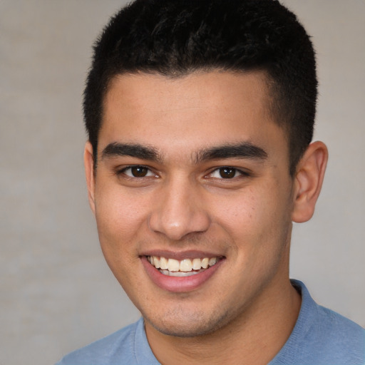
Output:
M162 160L155 148L138 144L113 142L109 143L106 148L103 149L103 153L101 153L102 160L103 158L113 158L117 156L131 156L140 158L141 160L155 162L160 162Z

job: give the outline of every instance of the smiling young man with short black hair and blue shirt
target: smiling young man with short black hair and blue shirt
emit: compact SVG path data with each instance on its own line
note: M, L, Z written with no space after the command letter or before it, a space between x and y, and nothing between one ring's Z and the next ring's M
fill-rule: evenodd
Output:
M59 364L365 364L289 280L314 212L312 43L274 0L137 0L95 46L84 160L103 254L143 318Z

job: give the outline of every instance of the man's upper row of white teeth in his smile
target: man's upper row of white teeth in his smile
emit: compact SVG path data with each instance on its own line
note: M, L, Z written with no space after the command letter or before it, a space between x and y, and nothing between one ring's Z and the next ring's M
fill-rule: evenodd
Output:
M170 272L190 272L192 270L207 269L217 262L217 257L204 257L202 259L167 259L166 257L148 256L148 261L156 268L168 270Z

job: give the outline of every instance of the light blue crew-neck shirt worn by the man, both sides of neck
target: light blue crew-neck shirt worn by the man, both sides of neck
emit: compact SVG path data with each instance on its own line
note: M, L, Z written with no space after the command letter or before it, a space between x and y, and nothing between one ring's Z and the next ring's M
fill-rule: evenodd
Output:
M365 329L319 306L305 285L297 323L269 365L365 365ZM82 349L56 365L159 365L145 336L143 319Z

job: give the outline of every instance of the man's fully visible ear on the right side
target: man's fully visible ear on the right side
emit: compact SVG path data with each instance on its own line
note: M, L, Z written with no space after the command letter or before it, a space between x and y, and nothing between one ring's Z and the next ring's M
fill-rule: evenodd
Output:
M312 218L319 192L321 192L328 160L324 143L311 143L298 163L294 178L294 209L292 221L307 222Z

